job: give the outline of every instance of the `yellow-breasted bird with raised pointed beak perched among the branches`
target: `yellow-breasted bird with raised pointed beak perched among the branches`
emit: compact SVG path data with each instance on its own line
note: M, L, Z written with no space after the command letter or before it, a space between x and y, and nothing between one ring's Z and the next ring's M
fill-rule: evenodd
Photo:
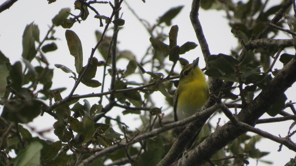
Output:
M207 102L210 90L202 70L198 66L199 57L192 64L184 66L174 96L174 120L180 121L194 115ZM189 151L200 130L185 148Z

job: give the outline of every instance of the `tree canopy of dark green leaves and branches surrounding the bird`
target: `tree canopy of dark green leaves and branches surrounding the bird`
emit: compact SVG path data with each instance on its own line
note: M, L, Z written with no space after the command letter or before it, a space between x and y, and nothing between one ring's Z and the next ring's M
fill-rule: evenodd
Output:
M1 4L0 17L16 2ZM75 10L60 9L47 30L28 22L22 48L16 48L21 55L0 51L0 165L248 165L250 160L268 165L279 159L262 160L270 151L256 148L256 143L264 140L279 145L279 152L282 147L296 152L295 95L286 95L296 81L295 1L268 6L268 0L192 0L186 11L191 25L185 25L192 34L186 41L177 40L184 22L174 21L183 5L162 8L163 14L150 22L149 13L135 12L131 1L67 3ZM132 22L123 10L137 20ZM229 52L210 49L201 10L225 14L232 33L227 38L236 40ZM89 22L97 29L92 32L96 43L84 45L91 37L81 36L88 29L79 27ZM136 24L149 37L122 42L139 35ZM219 26L211 30L219 31ZM122 38L126 27L134 32ZM57 30L65 36L57 36ZM47 32L41 36L41 31ZM149 45L141 45L143 40ZM144 55L134 54L135 47ZM63 48L68 55L51 57ZM179 72L191 63L188 59L197 58L192 54L197 49L205 61L200 67L211 94L195 115L174 122L171 110ZM12 56L18 60L11 61ZM158 107L157 102L164 103ZM45 135L48 130L28 125L46 115L53 121L49 131L55 138ZM139 126L127 125L133 117ZM284 121L289 123L281 125ZM259 124L281 125L288 133L275 135ZM183 153L200 129L194 148ZM296 162L289 157L280 160L287 166Z

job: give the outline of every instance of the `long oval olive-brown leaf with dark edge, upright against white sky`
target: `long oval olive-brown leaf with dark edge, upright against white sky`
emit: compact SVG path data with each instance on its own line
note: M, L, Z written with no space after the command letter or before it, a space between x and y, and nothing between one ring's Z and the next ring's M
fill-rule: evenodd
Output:
M68 48L70 54L75 58L76 72L79 73L82 70L83 65L83 54L82 45L79 37L72 30L66 30L65 32Z

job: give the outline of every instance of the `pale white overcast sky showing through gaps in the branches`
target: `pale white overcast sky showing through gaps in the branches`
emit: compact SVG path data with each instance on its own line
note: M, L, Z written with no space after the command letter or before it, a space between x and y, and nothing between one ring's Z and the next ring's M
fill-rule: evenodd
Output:
M3 3L4 0L0 0L0 4ZM73 1L74 2L74 1ZM134 11L139 15L140 18L147 20L151 25L154 24L156 19L163 15L168 9L171 7L176 7L179 5L184 5L184 8L181 10L180 14L173 19L172 25L178 25L178 45L182 45L187 41L192 41L198 43L194 30L191 26L191 22L189 20L189 12L191 9L191 1L176 1L176 0L147 0L146 3L143 3L141 0L129 0L129 5L134 9ZM277 0L270 0L268 6L272 6L272 4L278 3ZM40 40L42 40L48 30L48 27L52 24L51 19L59 12L61 8L70 7L71 12L74 14L78 14L78 10L74 11L74 5L71 4L70 1L57 0L57 2L52 4L47 4L46 0L31 0L17 1L9 10L5 10L0 13L0 50L2 53L9 57L10 62L12 64L15 61L21 60L22 54L22 34L25 26L34 21L35 24L38 25L40 30ZM110 6L109 4L99 4L96 5L97 10L101 15L110 16ZM96 7L95 6L95 7ZM146 53L149 42L149 34L144 29L143 25L134 17L131 12L128 10L126 5L123 3L122 10L120 14L123 12L123 19L126 20L123 29L120 30L118 35L118 41L120 42L118 47L120 51L130 50L132 51L138 61L141 60L141 57ZM94 35L95 30L103 31L103 27L99 27L99 20L92 18L94 13L89 10L90 15L86 21L79 23L75 23L71 28L81 39L81 43L83 46L83 66L86 65L88 57L91 53L91 48L96 45L96 38ZM231 48L235 48L237 46L237 39L234 38L233 34L230 32L231 28L228 25L228 21L224 18L225 13L222 11L210 10L203 11L200 10L200 22L203 27L203 31L205 37L207 39L211 54L224 53L229 54ZM59 40L54 41L57 44L58 50L54 52L46 53L45 56L50 63L50 67L55 69L54 64L63 64L73 71L75 71L74 67L74 58L70 55L67 47L67 42L65 40L65 29L62 27L55 27L56 30L55 37L59 38ZM170 28L165 28L164 32L168 34ZM112 30L108 32L108 35L112 34ZM287 35L284 35L283 38L288 38ZM51 43L52 41L46 41L44 44ZM294 54L294 53L293 53ZM187 52L185 55L181 55L181 57L186 58L189 61L193 61L197 58L197 55L200 56L200 66L204 67L205 63L202 60L202 53L200 51L200 46L196 49ZM98 52L94 55L99 60L103 60ZM33 60L32 63L36 63L36 60ZM126 69L128 61L120 60L118 63L118 68ZM172 63L168 62L167 69L170 69L170 65ZM277 63L276 68L280 69L282 65ZM150 66L144 66L144 68L149 71ZM102 82L102 67L98 68L98 72L96 74L96 79ZM175 71L180 71L180 66L176 66ZM60 69L54 70L54 80L52 88L59 87L68 87L68 89L62 93L62 97L66 97L70 92L71 87L74 85L74 80L68 78L70 74L64 73ZM133 78L130 78L133 80ZM106 83L104 91L107 91L109 83ZM289 92L295 92L294 90L289 89ZM88 94L91 92L100 92L100 88L88 88L84 85L79 85L74 94ZM156 107L166 108L163 103L165 103L164 99L158 99L157 93L154 93L155 104ZM295 95L292 93L287 93L288 100L292 100L295 102ZM98 99L90 99L91 105L96 103ZM287 101L288 101L287 100ZM103 104L107 101L104 100ZM82 100L80 101L83 104ZM113 109L108 115L112 117L116 117L116 115L121 113L121 109ZM171 110L166 111L165 113L170 113ZM223 116L223 115L222 115ZM268 118L268 115L263 115L262 118ZM125 123L128 126L138 126L140 124L139 121L135 121L135 118L138 118L136 115L128 115L125 116L128 120ZM223 117L222 117L223 118ZM213 118L217 121L217 118ZM224 119L224 120L223 120ZM223 125L228 121L227 118L223 118L220 125ZM216 123L214 122L213 123ZM52 128L52 124L54 123L54 119L48 115L44 115L44 117L39 117L34 120L34 123L31 123L30 126L35 126L37 130L41 130L44 128ZM282 122L282 123L274 123L274 124L260 124L256 127L266 130L271 134L278 136L280 134L282 137L287 135L288 126L292 122ZM49 134L47 135L49 138L53 138L57 140L57 138ZM273 141L263 139L260 141L260 144L256 144L256 147L260 149L260 151L271 152L268 156L264 157L264 160L270 160L274 162L274 165L284 165L289 161L289 158L295 157L295 152L290 151L286 147L283 147L282 152L277 152L279 144L274 143ZM255 160L249 160L250 165L256 165ZM259 163L259 165L266 165L264 163Z

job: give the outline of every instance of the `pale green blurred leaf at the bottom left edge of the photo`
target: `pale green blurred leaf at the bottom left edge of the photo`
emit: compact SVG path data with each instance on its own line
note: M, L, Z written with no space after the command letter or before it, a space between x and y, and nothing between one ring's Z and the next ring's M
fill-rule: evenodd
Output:
M40 150L42 144L32 142L26 149L20 151L15 158L14 166L40 166Z

